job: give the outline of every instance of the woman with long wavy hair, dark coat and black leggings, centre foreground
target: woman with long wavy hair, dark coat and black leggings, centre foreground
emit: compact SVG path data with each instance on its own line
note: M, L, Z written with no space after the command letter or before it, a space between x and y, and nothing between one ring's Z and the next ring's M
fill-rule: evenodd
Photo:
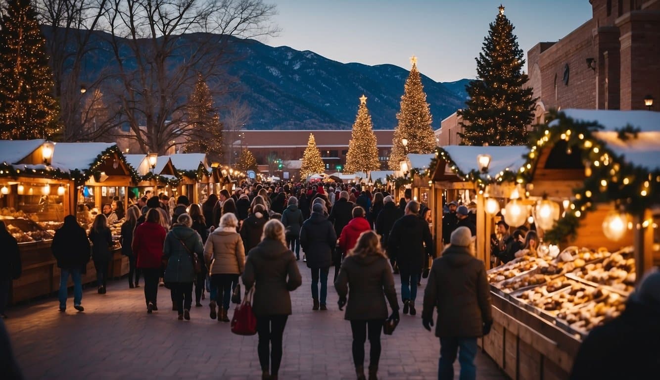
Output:
M364 342L367 336L371 345L369 378L376 379L380 360L380 332L387 318L385 300L389 301L392 308L389 317L399 320L394 277L376 232L360 234L356 247L341 265L335 289L339 294L339 309L347 303L348 294L344 319L350 321L353 333L353 363L358 379L364 379Z

